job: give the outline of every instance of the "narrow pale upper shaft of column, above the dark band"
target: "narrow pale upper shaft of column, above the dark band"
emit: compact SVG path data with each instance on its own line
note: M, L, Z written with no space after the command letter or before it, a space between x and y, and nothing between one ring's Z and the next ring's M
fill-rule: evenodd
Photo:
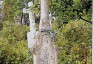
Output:
M51 23L49 20L48 0L41 0L41 18L40 31L51 30Z

